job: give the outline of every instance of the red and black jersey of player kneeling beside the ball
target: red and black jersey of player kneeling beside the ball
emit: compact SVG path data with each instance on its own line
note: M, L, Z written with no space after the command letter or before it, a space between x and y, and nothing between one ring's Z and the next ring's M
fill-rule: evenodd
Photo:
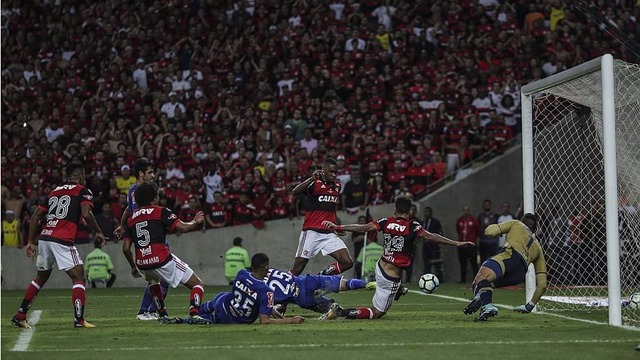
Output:
M422 225L415 220L396 217L382 218L374 224L384 238L381 260L400 268L411 265L414 243L425 233Z

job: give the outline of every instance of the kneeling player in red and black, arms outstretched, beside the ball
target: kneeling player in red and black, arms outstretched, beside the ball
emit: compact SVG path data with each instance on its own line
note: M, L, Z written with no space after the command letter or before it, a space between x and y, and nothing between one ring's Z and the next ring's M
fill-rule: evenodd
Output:
M440 234L426 231L416 220L411 220L411 199L405 195L396 197L394 216L382 218L368 224L336 225L325 221L323 225L338 232L382 231L384 252L376 266L376 292L373 295L373 307L343 309L333 304L320 320L331 320L336 317L348 319L378 319L384 316L391 307L396 293L401 288L402 270L411 264L414 242L417 239L431 240L451 246L475 246L471 242L457 242Z

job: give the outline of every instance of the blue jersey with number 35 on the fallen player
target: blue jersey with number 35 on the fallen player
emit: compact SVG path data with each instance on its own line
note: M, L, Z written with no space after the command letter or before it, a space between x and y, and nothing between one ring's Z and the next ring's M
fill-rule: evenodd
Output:
M260 314L270 316L274 303L273 291L244 269L238 272L231 291L218 294L213 302L218 324L251 324ZM210 305L202 304L200 310L210 312Z

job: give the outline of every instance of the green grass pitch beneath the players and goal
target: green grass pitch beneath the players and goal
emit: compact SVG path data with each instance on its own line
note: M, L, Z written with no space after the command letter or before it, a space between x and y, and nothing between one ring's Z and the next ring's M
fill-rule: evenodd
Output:
M226 287L209 286L207 299ZM415 290L415 287L414 287ZM22 291L2 292L3 359L640 359L640 331L545 314L517 314L506 307L488 322L462 313L469 289L443 284L434 295L412 291L380 320L318 321L302 325L160 325L135 320L142 289L89 289L86 318L98 327L72 327L69 290L43 289L32 312L41 310L26 351L13 351L24 332L10 324ZM371 304L371 292L343 292L345 306ZM519 305L523 290L498 290L498 304ZM185 316L186 289L172 289L167 307ZM606 321L606 311L564 314ZM23 338L25 335L23 335Z

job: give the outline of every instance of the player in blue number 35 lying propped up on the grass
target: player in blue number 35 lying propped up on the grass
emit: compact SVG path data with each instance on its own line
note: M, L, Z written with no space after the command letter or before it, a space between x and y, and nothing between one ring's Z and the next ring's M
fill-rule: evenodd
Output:
M274 295L264 278L269 271L269 257L259 253L251 258L251 272L240 270L230 292L221 292L200 306L200 316L209 324L300 324L302 316L285 318L274 312ZM275 315L272 318L271 315ZM190 319L158 319L161 323L191 324ZM199 322L198 322L199 323Z

